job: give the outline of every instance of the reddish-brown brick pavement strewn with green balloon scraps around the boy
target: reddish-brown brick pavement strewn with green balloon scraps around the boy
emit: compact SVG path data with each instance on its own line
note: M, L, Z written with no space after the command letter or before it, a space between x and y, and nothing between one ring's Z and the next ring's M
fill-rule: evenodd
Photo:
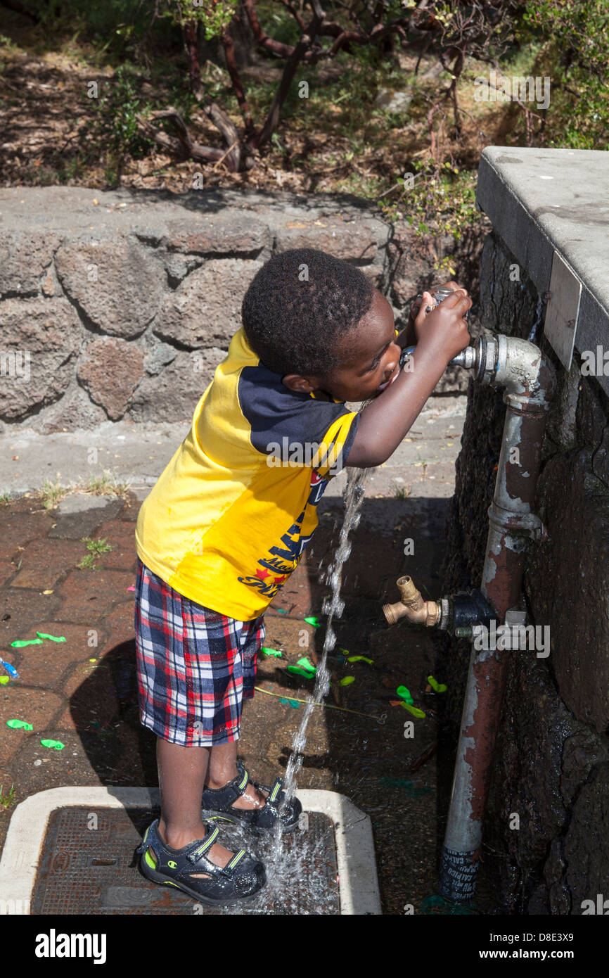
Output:
M388 914L404 913L408 905L419 912L435 893L450 783L447 787L443 776L438 804L435 755L411 771L413 762L433 749L442 715L442 694L429 691L427 684L429 674L443 680L434 670L430 636L404 621L388 627L381 607L399 599L395 581L403 573L413 576L424 597L441 595L444 521L464 406L465 398L431 399L389 463L370 473L361 522L343 569L345 609L334 620L332 689L326 707L313 711L298 776L299 787L339 791L370 815L383 912ZM148 484L179 444L169 441L163 449L167 457L151 463ZM6 471L3 462L0 491L10 481ZM40 484L44 464L38 471ZM263 783L283 773L303 710L295 700L304 699L313 686L285 667L303 655L315 662L324 645L322 606L329 589L323 572L342 521L341 480L344 485L341 475L331 492L328 487L312 544L266 615L265 645L283 655L260 656L257 686L266 691L244 705L239 748L251 777ZM5 793L15 785L16 803L68 784L157 783L154 736L138 719L130 590L135 584L134 522L148 492L146 481L140 472L140 485L122 498L72 491L49 510L29 481L28 495L0 506L0 656L20 673L19 680L0 690L0 784ZM111 547L95 557L95 569L77 566L87 553L83 537L105 540ZM414 552L405 556L409 539ZM309 616L317 616L321 627L305 622ZM64 636L66 642L11 647L14 640L35 638L36 632ZM340 660L353 655L372 662ZM347 676L354 681L340 686ZM411 690L424 718L391 705L399 698L398 686ZM33 731L8 728L6 722L14 718L31 724ZM46 748L41 739L59 740L65 747ZM11 811L0 814L0 843ZM176 912L181 912L178 907Z

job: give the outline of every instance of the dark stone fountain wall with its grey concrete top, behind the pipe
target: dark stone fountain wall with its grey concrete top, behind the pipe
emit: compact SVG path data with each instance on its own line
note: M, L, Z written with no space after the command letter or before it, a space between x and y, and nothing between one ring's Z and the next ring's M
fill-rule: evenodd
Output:
M609 348L609 254L597 220L609 162L573 156L494 148L478 191L495 225L482 253L483 327L525 338L535 330L558 378L536 503L549 540L530 545L524 580L529 620L549 626L550 654L509 653L483 853L504 903L536 914L580 914L583 901L609 898L609 377L581 369L592 343L604 337ZM584 285L570 371L544 336L554 250ZM480 584L504 412L501 391L470 380L445 593ZM468 657L466 642L442 644L453 733ZM509 827L512 813L519 829Z

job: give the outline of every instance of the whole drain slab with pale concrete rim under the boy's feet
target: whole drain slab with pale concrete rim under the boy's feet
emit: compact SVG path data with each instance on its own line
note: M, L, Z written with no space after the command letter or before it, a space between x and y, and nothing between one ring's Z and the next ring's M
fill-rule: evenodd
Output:
M270 838L221 825L231 849L255 853L268 882L254 900L226 908L197 904L147 880L134 859L158 815L148 788L69 787L41 791L13 814L0 861L0 903L32 914L379 914L370 819L344 795L301 790L302 827Z

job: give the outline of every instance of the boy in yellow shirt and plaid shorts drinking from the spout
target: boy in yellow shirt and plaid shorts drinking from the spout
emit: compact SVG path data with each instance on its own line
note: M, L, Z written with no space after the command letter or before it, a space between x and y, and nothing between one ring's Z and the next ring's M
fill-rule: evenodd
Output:
M264 610L317 526L328 478L395 451L448 362L467 345L464 289L422 297L396 339L390 304L363 272L300 248L261 268L242 327L196 405L191 431L139 514L136 643L142 723L157 734L161 815L143 872L209 905L254 896L264 866L203 819L258 832L298 822L282 779L248 783L237 760ZM458 290L457 290L458 289ZM417 346L400 372L402 347ZM373 401L361 413L345 401ZM305 460L304 462L302 460Z

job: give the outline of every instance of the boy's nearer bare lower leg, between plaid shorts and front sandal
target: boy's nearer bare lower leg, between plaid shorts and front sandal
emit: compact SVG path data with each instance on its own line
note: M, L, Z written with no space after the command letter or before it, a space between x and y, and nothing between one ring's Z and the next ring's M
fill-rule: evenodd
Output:
M205 826L201 822L201 795L209 763L209 747L183 747L157 737L156 762L161 807L158 831L172 849L183 849L205 835ZM219 867L225 867L233 855L218 843L207 853L211 862ZM208 873L193 875L205 877Z

